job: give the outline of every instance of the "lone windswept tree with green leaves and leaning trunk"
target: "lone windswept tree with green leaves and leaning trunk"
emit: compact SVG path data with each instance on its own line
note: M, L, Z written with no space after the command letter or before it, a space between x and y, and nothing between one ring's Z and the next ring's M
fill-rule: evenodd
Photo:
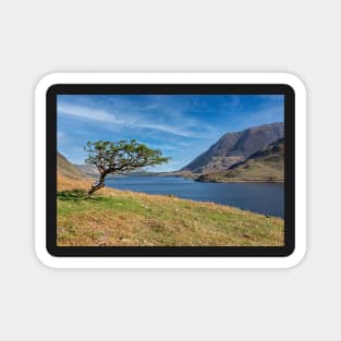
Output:
M132 172L146 166L168 162L170 159L162 157L161 150L151 149L145 144L137 143L136 139L88 141L84 149L88 154L85 162L95 166L99 171L99 181L92 185L87 192L88 196L106 185L105 180L108 174Z

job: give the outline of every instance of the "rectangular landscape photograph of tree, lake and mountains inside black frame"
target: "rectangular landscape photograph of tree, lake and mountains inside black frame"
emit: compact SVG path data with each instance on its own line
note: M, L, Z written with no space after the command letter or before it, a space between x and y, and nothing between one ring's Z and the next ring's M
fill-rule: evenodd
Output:
M284 95L56 101L57 246L284 246Z

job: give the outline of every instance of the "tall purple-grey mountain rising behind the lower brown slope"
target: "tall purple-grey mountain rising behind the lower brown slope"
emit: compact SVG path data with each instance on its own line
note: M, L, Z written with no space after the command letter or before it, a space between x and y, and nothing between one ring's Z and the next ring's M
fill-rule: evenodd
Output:
M210 173L227 170L254 153L284 137L284 123L253 126L242 132L227 133L181 171Z

